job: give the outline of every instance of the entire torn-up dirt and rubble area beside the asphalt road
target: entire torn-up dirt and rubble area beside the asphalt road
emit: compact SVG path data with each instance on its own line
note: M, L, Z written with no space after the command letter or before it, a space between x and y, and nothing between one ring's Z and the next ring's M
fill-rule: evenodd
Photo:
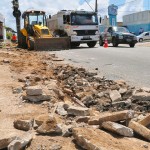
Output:
M0 149L150 149L149 88L15 47L0 49L0 76Z

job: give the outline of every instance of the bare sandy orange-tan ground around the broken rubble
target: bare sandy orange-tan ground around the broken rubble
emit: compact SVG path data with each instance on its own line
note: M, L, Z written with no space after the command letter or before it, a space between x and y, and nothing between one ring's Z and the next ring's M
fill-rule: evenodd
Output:
M65 81L58 80L57 74L54 73L54 70L56 70L54 66L58 65L58 61L52 61L52 59L53 55L49 55L46 52L30 52L17 48L0 49L0 135L10 132L15 132L18 135L24 133L13 127L15 118L21 116L37 117L42 114L53 113L55 107L49 108L49 102L35 104L23 101L22 93L13 93L13 89L24 87L25 84L29 84L26 79L32 76L38 77L37 79L40 78L38 84L43 89L45 88L46 82L50 82L50 80L57 80L59 88L64 86ZM60 64L62 66L62 62L59 62L59 65ZM29 82L30 85L37 84L35 79L31 79ZM44 92L49 93L47 89L45 89ZM92 89L85 93L85 95L91 92ZM52 99L50 104L56 104L60 101L62 100L56 97ZM63 101L67 104L74 103L67 95L65 95ZM108 99L106 99L106 101L108 101ZM104 103L106 104L107 102ZM64 118L62 116L55 113L54 116L59 123L64 123ZM103 147L107 150L150 149L150 144L148 142L137 138L113 137L113 135L103 131L93 131L95 135L92 134L92 137L90 137L90 129L86 131L81 130L81 134L87 137L87 139L92 138L93 141L97 141L96 144L103 144ZM98 139L100 139L100 141ZM74 142L73 137L43 136L37 135L36 133L31 144L26 149L49 150L52 145L54 145L55 148L58 147L58 149L60 147L62 150L81 149L77 146L76 142Z

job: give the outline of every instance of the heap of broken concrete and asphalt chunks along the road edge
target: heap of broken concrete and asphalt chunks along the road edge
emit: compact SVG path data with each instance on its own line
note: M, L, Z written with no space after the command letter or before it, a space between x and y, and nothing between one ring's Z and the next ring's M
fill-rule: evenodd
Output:
M22 101L39 105L46 101L48 113L17 118L14 128L37 135L72 137L87 150L107 149L103 141L94 141L96 137L101 139L101 133L106 137L116 134L128 138L139 138L138 134L150 141L150 89L136 89L122 80L107 80L96 71L54 64L51 58L55 58L54 55L45 63L51 61L53 77L42 79L32 74L26 77L29 84L26 85L25 79L22 87ZM36 79L34 85L31 84L33 77ZM8 149L13 150L16 143L19 147L26 146L32 136L27 139L11 140L7 143Z

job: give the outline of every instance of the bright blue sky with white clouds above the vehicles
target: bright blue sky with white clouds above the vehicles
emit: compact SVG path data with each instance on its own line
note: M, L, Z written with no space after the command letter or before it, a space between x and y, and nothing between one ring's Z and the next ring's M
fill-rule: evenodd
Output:
M16 30L15 18L12 15L12 0L0 0L0 13L5 17L5 25ZM95 0L19 0L21 12L28 9L40 9L47 14L55 14L57 11L65 10L94 10ZM150 0L97 0L98 14L102 17L108 15L108 6L118 6L117 21L122 21L122 16L135 11L150 10Z

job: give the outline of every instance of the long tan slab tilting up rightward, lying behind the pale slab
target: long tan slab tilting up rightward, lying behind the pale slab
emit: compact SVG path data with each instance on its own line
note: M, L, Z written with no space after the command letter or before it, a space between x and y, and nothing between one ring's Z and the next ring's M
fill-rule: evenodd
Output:
M121 120L128 120L132 119L134 117L134 111L132 110L124 110L119 112L107 112L107 113L101 113L100 116L91 117L88 121L89 125L102 125L105 121L121 121Z

